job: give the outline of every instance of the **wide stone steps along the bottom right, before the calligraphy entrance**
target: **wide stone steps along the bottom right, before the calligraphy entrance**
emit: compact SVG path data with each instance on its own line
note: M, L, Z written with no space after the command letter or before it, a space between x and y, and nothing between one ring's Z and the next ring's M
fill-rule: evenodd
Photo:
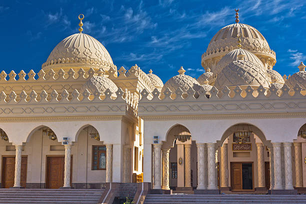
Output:
M144 204L162 203L262 203L281 204L299 203L306 204L306 195L255 195L255 194L221 194L221 195L199 195L199 194L148 194Z

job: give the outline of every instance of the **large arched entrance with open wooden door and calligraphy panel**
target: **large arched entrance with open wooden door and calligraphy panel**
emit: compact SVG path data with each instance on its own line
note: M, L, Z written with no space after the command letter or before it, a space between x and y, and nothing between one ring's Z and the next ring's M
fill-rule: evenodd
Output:
M254 125L235 124L222 135L220 187L231 191L265 191L270 186L269 142ZM228 172L228 173L227 173Z

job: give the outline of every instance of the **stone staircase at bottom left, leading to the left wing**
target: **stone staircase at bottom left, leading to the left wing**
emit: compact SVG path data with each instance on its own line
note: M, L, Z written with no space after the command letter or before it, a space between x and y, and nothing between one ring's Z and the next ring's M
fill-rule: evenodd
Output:
M0 203L96 204L103 190L0 188Z

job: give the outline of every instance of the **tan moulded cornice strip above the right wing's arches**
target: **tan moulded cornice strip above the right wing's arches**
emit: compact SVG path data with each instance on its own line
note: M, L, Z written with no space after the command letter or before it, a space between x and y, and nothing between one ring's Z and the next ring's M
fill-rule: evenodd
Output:
M143 120L215 120L215 119L244 119L244 118L294 118L306 117L306 112L289 113L244 113L244 114L201 114L201 115L149 115L139 116Z

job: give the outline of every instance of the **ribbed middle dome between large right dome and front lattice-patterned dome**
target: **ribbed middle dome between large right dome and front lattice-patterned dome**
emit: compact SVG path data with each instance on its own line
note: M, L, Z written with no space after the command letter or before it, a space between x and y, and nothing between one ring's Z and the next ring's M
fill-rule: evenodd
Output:
M244 60L247 61L251 61L255 64L257 64L258 66L262 66L263 64L260 61L260 59L253 53L245 50L245 49L234 49L231 50L230 52L228 52L227 54L225 54L220 60L219 62L216 64L216 67L213 71L214 74L218 74L227 64L238 60L238 55L239 54L243 54L244 55Z

